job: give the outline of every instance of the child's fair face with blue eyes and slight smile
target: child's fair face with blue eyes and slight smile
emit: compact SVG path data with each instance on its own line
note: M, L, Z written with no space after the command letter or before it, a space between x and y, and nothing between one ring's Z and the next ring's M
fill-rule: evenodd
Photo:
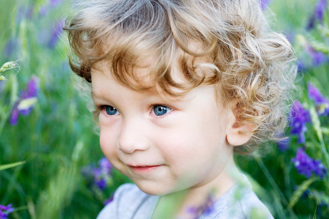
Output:
M213 86L199 86L172 101L122 86L110 75L95 71L91 80L95 105L105 106L99 115L100 145L116 169L150 195L223 176L233 146L225 137L229 115L218 112Z

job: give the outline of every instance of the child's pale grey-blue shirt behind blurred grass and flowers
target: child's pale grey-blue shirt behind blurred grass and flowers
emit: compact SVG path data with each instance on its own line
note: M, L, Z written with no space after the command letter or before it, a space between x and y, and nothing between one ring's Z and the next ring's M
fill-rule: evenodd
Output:
M253 208L261 210L266 215L264 218L274 219L253 192L247 177L242 173L241 175L243 185L235 184L213 203L210 211L207 210L198 219L249 219ZM238 200L235 198L237 194ZM135 184L122 184L114 192L113 201L101 210L97 219L151 219L159 198L160 196L144 193Z

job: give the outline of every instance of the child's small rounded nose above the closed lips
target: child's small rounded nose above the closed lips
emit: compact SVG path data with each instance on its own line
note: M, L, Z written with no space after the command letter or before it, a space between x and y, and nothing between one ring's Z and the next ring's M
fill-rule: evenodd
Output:
M146 125L138 120L124 122L116 146L128 154L136 150L145 151L150 146L147 133Z

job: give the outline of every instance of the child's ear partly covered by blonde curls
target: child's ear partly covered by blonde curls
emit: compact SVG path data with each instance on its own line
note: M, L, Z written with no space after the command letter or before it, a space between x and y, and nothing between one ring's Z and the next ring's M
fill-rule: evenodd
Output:
M238 110L236 107L229 110L228 122L226 127L226 140L232 146L240 146L250 140L250 132L254 128L254 124L242 124L236 118L233 110Z

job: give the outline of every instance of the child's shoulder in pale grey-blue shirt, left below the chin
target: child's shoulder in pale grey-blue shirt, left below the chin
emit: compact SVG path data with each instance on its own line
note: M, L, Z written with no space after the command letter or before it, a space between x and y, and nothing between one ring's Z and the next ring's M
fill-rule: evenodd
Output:
M97 219L124 219L145 213L145 205L150 206L152 197L156 196L144 193L135 184L124 183L115 190L113 201L101 210Z

